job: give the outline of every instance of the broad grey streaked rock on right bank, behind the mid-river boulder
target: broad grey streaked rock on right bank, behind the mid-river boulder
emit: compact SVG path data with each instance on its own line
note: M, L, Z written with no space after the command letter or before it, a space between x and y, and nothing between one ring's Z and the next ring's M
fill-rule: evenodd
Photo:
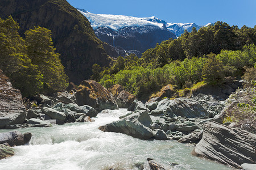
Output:
M193 118L209 116L209 113L196 100L177 98L170 101L166 115Z

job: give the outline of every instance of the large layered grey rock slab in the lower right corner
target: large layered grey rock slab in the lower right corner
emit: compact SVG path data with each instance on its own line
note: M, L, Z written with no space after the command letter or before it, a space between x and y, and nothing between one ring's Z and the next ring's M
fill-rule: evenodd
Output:
M256 163L256 134L230 128L217 122L205 122L203 138L193 155L241 168L243 163Z

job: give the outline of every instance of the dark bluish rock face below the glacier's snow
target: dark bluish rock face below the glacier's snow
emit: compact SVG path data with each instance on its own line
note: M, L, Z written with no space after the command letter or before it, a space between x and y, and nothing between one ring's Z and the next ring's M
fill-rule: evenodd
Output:
M141 53L154 48L156 43L163 40L176 39L174 33L154 25L129 26L117 31L108 27L98 27L94 32L99 39L112 46L121 46L123 49L137 50Z

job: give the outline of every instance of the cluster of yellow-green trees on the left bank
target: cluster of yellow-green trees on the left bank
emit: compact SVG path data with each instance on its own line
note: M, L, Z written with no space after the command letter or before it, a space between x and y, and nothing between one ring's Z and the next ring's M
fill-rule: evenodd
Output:
M55 53L51 31L35 27L22 38L18 30L19 25L11 16L0 18L0 69L9 76L14 88L23 97L64 90L68 77L60 54Z

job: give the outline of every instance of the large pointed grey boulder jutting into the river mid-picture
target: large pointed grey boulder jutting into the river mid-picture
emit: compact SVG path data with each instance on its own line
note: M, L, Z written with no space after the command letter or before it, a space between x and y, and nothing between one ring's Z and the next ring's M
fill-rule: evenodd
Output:
M154 136L151 131L152 120L147 111L139 111L121 120L100 126L102 131L123 133L139 139L150 139Z

